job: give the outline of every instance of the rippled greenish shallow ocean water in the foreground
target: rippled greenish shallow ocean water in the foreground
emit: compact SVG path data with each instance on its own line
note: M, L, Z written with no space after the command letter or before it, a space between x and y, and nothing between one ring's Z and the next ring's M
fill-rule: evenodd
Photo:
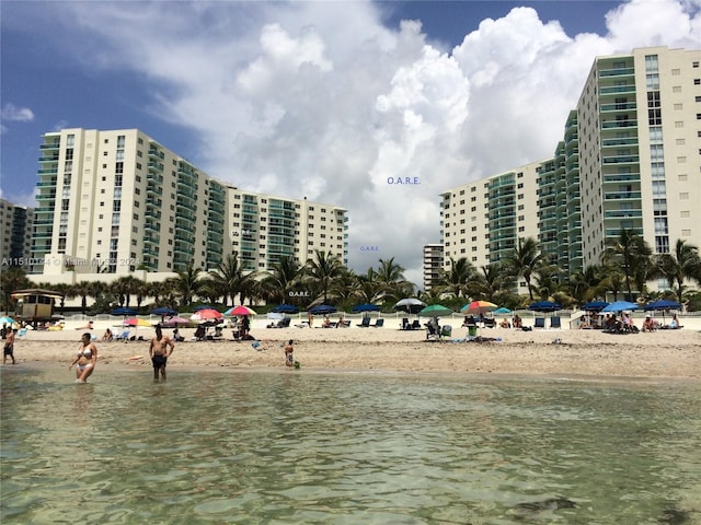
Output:
M701 385L1 371L9 524L701 524Z

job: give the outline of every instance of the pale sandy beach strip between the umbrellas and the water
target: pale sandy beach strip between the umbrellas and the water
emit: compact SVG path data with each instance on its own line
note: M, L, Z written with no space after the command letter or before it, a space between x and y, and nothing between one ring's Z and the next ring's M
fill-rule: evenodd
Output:
M194 329L183 328L185 342L175 346L169 370L223 366L284 368L283 346L295 341L295 358L302 370L343 372L453 372L472 374L559 375L567 377L654 377L701 380L701 332L698 318L683 328L650 334L612 335L599 330L481 328L479 335L498 341L464 341L466 328L455 328L450 339L426 341L424 330L404 331L387 319L382 328L265 328L253 324L258 340L231 340L231 329L219 341L193 341ZM459 325L453 322L453 326ZM107 322L96 322L92 334L101 338ZM33 331L18 338L15 359L22 363L67 366L85 331L67 323L60 331ZM115 328L113 327L113 331ZM166 335L171 330L164 330ZM110 366L151 370L148 359L153 329L131 331L145 340L95 343L99 362L94 378ZM257 347L257 348L255 348Z

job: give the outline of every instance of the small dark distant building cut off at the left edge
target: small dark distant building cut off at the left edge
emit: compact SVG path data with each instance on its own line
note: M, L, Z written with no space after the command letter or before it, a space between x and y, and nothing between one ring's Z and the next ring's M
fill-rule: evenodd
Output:
M0 199L0 271L10 266L30 266L33 226L34 208Z

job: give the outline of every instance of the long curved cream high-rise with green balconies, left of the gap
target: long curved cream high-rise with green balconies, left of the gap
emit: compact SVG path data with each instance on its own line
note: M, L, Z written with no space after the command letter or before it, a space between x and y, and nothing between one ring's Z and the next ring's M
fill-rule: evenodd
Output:
M315 249L347 260L346 210L243 191L138 129L64 129L41 144L33 268L44 276L246 270Z

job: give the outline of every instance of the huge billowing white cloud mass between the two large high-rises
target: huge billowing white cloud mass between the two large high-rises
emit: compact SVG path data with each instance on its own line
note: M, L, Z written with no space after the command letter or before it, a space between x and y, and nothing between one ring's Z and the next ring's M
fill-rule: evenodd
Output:
M450 54L416 22L383 27L365 2L73 5L96 49L82 59L141 75L151 110L200 138L193 162L347 208L352 266L394 256L420 288L439 192L550 156L596 56L698 47L701 34L698 0L633 0L607 15L606 35L567 35L517 8Z

